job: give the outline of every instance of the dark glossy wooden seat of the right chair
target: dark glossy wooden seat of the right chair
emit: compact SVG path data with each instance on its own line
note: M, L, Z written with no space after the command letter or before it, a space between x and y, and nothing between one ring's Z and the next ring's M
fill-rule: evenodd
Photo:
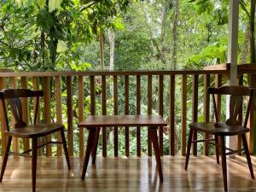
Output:
M248 132L248 128L241 125L228 125L226 123L191 123L190 129L207 132L218 136L234 136L244 132Z

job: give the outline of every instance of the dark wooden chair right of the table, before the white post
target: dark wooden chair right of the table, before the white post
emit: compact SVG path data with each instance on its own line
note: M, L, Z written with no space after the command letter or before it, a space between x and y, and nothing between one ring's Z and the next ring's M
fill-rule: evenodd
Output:
M214 142L216 146L216 155L217 155L217 163L218 163L218 137L220 137L220 148L221 148L221 160L222 160L222 170L223 170L223 177L224 177L224 191L228 191L227 186L227 167L226 167L226 155L240 153L244 151L247 157L247 164L249 166L249 170L251 172L251 177L254 179L253 175L253 166L251 157L248 151L247 146L247 138L245 133L249 131L247 128L247 120L252 104L252 97L253 97L253 89L244 86L223 86L220 88L209 88L208 93L212 95L213 107L216 122L202 122L202 123L191 123L189 124L189 140L188 140L188 148L186 154L186 162L185 162L185 170L188 168L189 164L189 154L191 143L199 143L199 142ZM219 122L219 115L216 105L216 100L214 95L230 95L230 118L226 120L224 123ZM247 112L243 122L243 125L238 122L238 115L242 113L242 106L243 106L243 97L249 96L248 104L247 104ZM205 140L192 140L194 135L194 131L202 131L208 134L213 135L215 138L213 139L205 139ZM225 147L225 137L226 136L236 136L240 135L243 148L233 150L231 148ZM226 153L226 150L230 152Z

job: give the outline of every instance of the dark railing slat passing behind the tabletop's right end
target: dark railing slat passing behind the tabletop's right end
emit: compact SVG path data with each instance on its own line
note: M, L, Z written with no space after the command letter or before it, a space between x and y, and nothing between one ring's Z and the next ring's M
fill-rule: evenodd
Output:
M164 115L164 76L159 76L159 114L163 117ZM160 143L160 155L164 154L163 144L164 144L164 133L163 126L159 128L159 143Z

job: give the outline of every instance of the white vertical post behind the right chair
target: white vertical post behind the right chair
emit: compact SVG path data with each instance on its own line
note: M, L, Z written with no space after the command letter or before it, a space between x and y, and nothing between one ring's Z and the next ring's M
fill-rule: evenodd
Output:
M230 0L229 15L229 44L228 44L228 63L230 63L230 85L237 84L237 47L238 47L238 20L239 20L239 0ZM230 116L230 98L227 97L226 114ZM237 147L237 138L227 139L229 148Z

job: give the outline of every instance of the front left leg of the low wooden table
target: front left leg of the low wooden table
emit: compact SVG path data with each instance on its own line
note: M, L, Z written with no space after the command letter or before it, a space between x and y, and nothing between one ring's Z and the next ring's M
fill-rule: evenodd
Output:
M88 136L87 147L86 147L86 152L85 152L85 156L84 156L84 166L83 166L83 172L82 172L82 180L84 180L84 177L85 177L88 162L89 162L89 159L90 159L91 148L93 146L93 143L95 142L95 137L96 137L96 129L95 128L90 128L88 130L89 130L89 136Z

